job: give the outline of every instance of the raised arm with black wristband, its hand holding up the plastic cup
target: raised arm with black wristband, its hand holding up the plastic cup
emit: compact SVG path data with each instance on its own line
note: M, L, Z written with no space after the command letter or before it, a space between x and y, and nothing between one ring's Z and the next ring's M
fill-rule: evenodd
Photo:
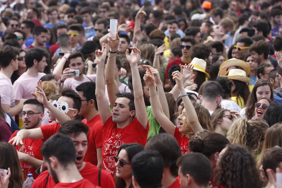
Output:
M108 41L108 45L110 46L111 52L118 51L118 45L120 42L118 33L116 36L116 40L113 40L112 37L109 35L107 38L107 41ZM112 107L117 100L116 93L119 91L118 84L115 80L116 60L117 60L117 54L110 53L108 60L107 60L106 71L105 71L107 92L108 92L109 101Z

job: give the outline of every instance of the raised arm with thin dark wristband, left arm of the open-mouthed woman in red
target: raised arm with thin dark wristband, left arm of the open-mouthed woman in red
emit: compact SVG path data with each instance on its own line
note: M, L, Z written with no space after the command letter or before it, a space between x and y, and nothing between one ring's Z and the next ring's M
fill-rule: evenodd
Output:
M150 102L151 102L151 107L154 117L156 118L160 126L165 130L165 132L174 136L175 125L170 122L170 119L166 117L166 115L163 112L161 103L159 101L158 93L155 87L153 72L151 71L149 66L147 66L147 71L143 79L144 81L146 81L146 84L149 86L150 89L149 96L150 96ZM165 102L167 103L166 100Z

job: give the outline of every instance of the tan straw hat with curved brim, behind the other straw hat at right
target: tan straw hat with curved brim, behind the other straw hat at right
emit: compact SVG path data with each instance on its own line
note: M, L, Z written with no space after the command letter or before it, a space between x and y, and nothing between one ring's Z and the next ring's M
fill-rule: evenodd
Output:
M239 60L236 58L232 58L229 60L224 61L220 67L219 67L219 72L218 72L218 76L226 76L228 74L228 68L232 67L232 66L239 66L241 67L245 72L246 72L246 76L249 76L250 72L251 72L251 67L250 65L243 60Z

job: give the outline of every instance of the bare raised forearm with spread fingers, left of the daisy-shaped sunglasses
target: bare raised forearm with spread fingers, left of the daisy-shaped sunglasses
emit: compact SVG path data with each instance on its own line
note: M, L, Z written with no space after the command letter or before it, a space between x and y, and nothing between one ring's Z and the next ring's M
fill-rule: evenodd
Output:
M34 96L35 99L38 100L38 102L42 103L44 107L48 108L48 110L54 114L55 118L62 124L66 121L71 120L70 117L68 117L65 112L60 111L57 107L52 105L48 100L47 97L43 91L42 88L42 81L40 80L37 82L36 88L38 89L38 95L35 93L31 93L32 96Z

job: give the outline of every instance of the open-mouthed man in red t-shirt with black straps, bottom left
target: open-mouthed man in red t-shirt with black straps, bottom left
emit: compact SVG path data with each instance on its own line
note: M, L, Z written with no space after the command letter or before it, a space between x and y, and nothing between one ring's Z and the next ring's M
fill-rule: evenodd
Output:
M89 180L94 185L100 185L102 188L115 186L112 176L106 170L100 170L97 166L86 162L85 155L90 148L88 147L89 140L87 138L88 127L85 124L78 121L67 121L61 125L58 133L69 136L75 144L76 168L84 179ZM99 172L101 173L100 177ZM49 175L49 171L45 170L38 176L32 186L34 188L52 188L56 184L54 180Z

